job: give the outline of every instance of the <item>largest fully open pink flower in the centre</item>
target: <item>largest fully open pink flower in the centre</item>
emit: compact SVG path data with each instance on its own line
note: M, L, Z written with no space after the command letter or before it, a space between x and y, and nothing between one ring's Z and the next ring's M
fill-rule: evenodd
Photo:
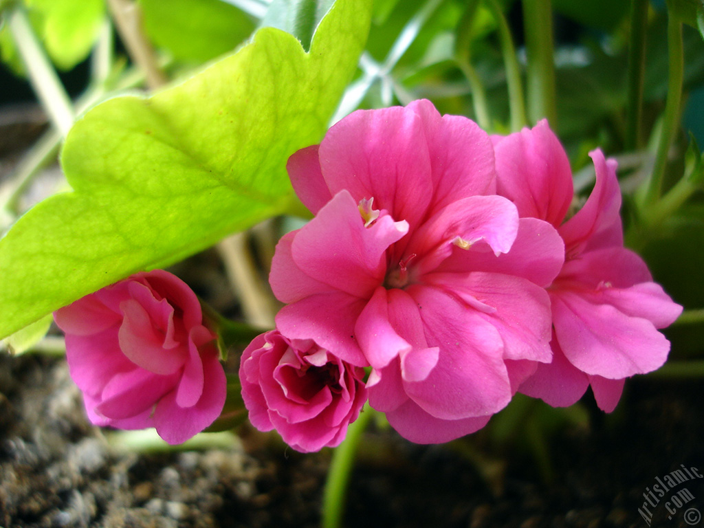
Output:
M474 122L429 101L357 111L288 169L315 218L277 246L277 327L370 365L370 403L407 439L476 431L551 360L562 241L495 195Z

